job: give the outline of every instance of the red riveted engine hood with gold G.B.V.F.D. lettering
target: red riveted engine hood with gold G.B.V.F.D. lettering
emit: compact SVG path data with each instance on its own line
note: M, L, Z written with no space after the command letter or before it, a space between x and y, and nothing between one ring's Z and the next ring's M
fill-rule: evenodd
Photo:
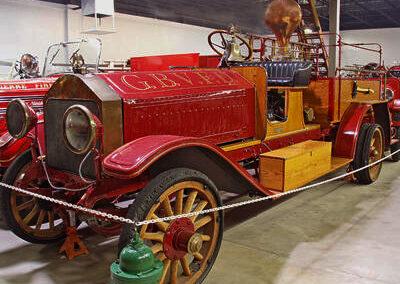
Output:
M254 87L236 72L98 76L123 100L125 143L156 134L202 137L214 144L255 136Z

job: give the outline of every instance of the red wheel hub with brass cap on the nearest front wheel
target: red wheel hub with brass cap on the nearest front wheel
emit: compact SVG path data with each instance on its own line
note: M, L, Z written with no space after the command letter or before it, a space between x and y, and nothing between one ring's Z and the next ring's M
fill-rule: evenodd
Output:
M194 224L189 218L175 220L164 236L164 254L172 260L182 259L187 253L199 252L202 246L201 235L195 232Z

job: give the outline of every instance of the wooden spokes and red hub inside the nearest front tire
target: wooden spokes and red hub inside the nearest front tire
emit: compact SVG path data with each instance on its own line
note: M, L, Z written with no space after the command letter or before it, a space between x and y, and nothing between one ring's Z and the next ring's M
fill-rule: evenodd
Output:
M184 181L169 187L151 207L146 219L216 206L215 197L204 184ZM217 212L142 226L141 238L164 262L160 283L195 283L200 279L216 248L219 230Z

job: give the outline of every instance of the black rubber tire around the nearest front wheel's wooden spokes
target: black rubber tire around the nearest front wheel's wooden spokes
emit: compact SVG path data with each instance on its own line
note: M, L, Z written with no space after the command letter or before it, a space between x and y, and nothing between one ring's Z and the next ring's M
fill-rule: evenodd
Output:
M218 194L216 186L205 174L188 168L176 168L165 171L156 176L153 180L151 180L149 184L138 194L135 201L129 206L126 217L133 220L144 220L151 207L158 202L159 197L166 189L178 182L189 180L198 181L207 185L207 188L214 195L217 201L217 205L222 205L222 201ZM202 283L204 281L207 274L210 272L221 247L224 218L222 211L218 211L218 214L219 234L215 250L208 261L207 269L205 269L204 273L201 275L197 283ZM126 224L123 226L118 243L118 255L121 250L131 241L133 234L134 231L131 225Z

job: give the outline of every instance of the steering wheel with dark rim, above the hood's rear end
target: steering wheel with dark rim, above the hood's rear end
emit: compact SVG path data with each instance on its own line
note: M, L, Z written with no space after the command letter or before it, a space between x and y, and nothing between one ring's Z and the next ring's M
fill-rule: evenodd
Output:
M208 35L208 44L210 45L212 50L215 51L215 53L222 56L224 55L228 43L232 41L233 37L235 37L238 41L240 48L242 48L242 46L245 48L244 51L247 55L245 55L244 60L249 60L253 56L253 49L250 47L250 44L245 39L238 36L236 33L227 32L224 30L213 31Z

